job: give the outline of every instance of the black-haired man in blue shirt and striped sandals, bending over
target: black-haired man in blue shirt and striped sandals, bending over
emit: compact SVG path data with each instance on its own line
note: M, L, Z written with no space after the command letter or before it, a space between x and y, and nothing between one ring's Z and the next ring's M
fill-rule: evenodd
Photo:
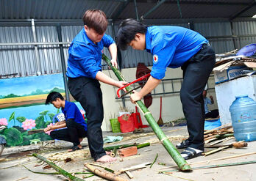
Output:
M181 67L183 81L180 90L182 109L187 119L189 138L177 144L186 148L185 159L195 158L204 151L205 110L202 92L213 66L215 53L201 34L179 26L146 26L133 19L122 21L118 29L118 46L131 46L153 55L151 76L140 92L131 95L132 103L152 91L166 73L166 68Z

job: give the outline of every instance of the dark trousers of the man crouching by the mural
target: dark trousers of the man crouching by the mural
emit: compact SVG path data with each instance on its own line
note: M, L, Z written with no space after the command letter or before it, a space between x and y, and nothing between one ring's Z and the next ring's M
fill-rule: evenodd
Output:
M85 129L73 119L68 119L65 123L67 128L51 131L51 138L72 142L74 146L79 145L79 138L85 138L87 135Z

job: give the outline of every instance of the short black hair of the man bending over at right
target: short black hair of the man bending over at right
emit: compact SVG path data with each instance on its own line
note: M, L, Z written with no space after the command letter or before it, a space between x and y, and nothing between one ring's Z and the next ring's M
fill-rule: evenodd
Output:
M117 44L121 50L126 50L129 43L135 38L136 33L146 34L146 26L132 18L121 21L118 27Z

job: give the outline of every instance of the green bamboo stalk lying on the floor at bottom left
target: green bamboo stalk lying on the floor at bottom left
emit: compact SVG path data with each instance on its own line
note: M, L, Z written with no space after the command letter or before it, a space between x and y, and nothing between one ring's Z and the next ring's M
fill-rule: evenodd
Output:
M82 179L79 179L75 176L73 176L72 174L68 173L68 171L65 171L63 169L61 169L59 166L55 165L54 163L52 163L51 161L47 160L46 158L44 158L41 155L38 155L37 153L33 153L32 154L34 157L46 162L47 164L49 164L49 166L51 166L52 169L58 171L60 174L62 174L63 176L67 177L70 180L74 180L74 181L82 181Z

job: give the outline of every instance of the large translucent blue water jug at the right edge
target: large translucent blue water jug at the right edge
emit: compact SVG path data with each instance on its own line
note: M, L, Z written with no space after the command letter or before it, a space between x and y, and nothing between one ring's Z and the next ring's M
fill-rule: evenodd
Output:
M232 127L237 141L256 140L256 101L248 95L235 96L230 106Z

